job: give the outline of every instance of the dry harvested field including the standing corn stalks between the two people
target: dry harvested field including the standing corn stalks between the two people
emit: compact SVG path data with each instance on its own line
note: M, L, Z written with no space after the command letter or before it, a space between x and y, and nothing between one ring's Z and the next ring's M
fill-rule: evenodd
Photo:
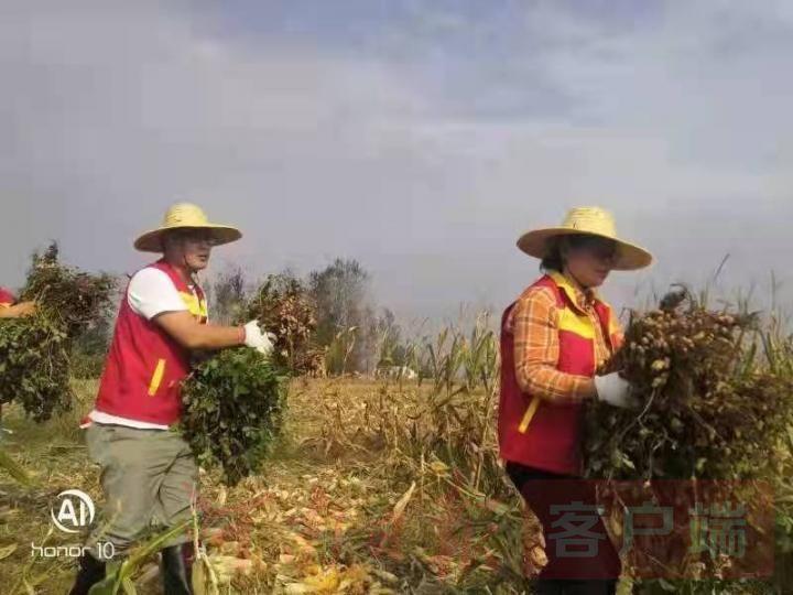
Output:
M793 374L791 342L760 333L757 365ZM542 564L539 528L498 459L498 336L487 317L448 327L409 349L420 380L297 377L284 430L259 469L233 487L202 473L195 527L206 545L194 582L203 593L531 593ZM78 429L96 380L74 380L72 411L34 424L3 411L0 584L3 594L67 591L75 561L33 556L80 536L53 530L50 507L65 489L101 502L98 469ZM790 593L793 468L776 477L778 576L754 582L632 583L620 593ZM3 461L6 463L3 463ZM13 464L13 468L12 465ZM13 472L13 473L11 473ZM161 593L157 540L141 543L117 592ZM531 554L524 556L524 552ZM787 573L785 575L785 572ZM112 592L112 591L109 591Z

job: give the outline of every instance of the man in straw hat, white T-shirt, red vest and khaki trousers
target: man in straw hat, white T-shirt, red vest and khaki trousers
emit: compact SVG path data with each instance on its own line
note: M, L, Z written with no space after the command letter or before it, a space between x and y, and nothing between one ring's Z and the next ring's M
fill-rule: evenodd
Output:
M213 247L241 237L238 229L211 224L195 205L173 205L163 225L139 237L134 247L162 259L130 279L86 442L101 466L106 523L89 537L73 595L87 594L105 577L108 553L123 556L152 521L174 527L191 517L198 478L187 443L170 431L180 420L180 383L191 351L246 345L262 353L270 337L256 321L245 326L207 324L207 303L196 273ZM108 544L112 544L109 547ZM165 593L191 593L192 540L185 531L162 551Z

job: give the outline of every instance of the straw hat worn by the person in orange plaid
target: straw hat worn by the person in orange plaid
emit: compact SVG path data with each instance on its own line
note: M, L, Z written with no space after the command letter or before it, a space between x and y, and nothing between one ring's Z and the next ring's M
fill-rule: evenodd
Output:
M574 235L597 236L617 242L617 260L612 267L615 270L632 271L652 262L652 255L644 248L617 237L613 217L600 207L573 208L560 227L546 227L523 234L518 240L518 248L529 256L544 258L551 238Z

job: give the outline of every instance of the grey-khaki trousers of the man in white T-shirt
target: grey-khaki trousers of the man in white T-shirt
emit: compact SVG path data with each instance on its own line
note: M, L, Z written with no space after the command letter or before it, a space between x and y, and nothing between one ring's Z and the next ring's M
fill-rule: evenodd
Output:
M97 543L110 542L116 555L123 555L150 527L165 530L191 517L198 467L180 434L93 423L86 443L89 456L101 466L105 493L105 518L87 542L95 558L102 558ZM186 530L166 545L191 539Z

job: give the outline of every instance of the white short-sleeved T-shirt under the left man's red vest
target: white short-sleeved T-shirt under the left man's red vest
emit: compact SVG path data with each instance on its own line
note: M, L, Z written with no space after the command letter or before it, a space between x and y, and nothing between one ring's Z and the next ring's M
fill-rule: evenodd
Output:
M188 286L193 295L197 298L196 286ZM187 310L187 304L182 300L182 296L178 294L176 286L167 273L153 267L141 269L132 275L127 288L127 303L132 309L132 312L140 314L148 321L165 312L182 312ZM126 425L139 430L169 429L167 425L110 415L96 409L88 414L88 418L97 423Z

